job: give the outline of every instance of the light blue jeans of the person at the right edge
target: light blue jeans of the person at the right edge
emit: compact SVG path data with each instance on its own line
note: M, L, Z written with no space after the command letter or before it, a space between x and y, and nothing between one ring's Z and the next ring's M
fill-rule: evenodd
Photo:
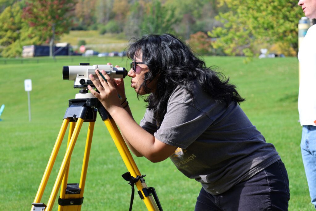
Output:
M309 194L316 209L316 126L303 126L301 151Z

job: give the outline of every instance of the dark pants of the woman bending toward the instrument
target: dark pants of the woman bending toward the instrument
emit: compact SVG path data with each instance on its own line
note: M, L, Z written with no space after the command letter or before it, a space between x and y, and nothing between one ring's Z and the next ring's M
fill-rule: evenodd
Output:
M288 173L279 160L222 194L212 195L202 188L195 211L288 210L289 199Z

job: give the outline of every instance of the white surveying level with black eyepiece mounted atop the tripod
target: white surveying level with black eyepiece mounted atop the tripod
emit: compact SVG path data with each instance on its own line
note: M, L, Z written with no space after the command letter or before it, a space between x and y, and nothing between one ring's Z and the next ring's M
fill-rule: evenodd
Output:
M74 88L79 88L79 94L76 98L94 98L91 93L88 93L88 85L94 87L94 84L89 79L92 74L96 80L99 80L95 74L95 70L104 70L110 78L125 78L127 70L124 67L113 67L113 65L92 65L89 63L80 63L80 65L63 66L63 79L74 81Z

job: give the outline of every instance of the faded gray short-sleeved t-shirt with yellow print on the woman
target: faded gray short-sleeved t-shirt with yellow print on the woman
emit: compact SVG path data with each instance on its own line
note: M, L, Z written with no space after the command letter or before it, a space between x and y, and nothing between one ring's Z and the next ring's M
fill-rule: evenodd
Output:
M192 91L194 101L185 89L174 90L160 126L149 109L140 122L156 139L179 147L170 158L185 176L217 195L280 159L236 102L216 102L199 85Z

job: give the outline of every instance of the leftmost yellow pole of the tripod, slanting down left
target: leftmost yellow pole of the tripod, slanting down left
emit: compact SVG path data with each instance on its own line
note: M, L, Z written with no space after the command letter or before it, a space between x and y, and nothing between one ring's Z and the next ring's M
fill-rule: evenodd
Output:
M69 119L64 119L33 203L39 203L40 200L42 199L48 178L52 172L52 168L55 163L59 148L64 139L64 135L66 133L68 123L69 123ZM33 210L33 206L31 208L31 211L32 210Z

